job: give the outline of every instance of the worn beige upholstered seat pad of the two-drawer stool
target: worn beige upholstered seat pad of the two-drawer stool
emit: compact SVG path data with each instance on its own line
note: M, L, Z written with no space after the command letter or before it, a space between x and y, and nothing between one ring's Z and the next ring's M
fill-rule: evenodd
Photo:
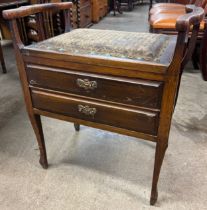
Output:
M163 55L171 41L172 37L162 34L76 29L32 44L29 48L72 55L115 57L162 63Z

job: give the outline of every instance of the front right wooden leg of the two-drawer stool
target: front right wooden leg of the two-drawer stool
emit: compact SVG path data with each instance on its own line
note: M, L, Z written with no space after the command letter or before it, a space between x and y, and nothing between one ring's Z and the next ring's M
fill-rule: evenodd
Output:
M154 173L153 173L153 180L152 180L152 190L151 190L151 197L150 197L150 205L154 205L157 201L158 191L157 191L157 183L160 175L160 169L162 166L162 162L165 156L165 151L167 149L167 145L161 145L159 142L156 145L156 152L155 152L155 163L154 163Z

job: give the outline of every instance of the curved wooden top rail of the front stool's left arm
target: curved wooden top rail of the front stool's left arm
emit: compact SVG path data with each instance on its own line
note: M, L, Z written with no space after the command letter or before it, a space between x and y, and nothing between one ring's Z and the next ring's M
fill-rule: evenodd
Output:
M30 6L23 6L17 9L3 11L3 17L7 20L26 17L32 14L41 13L45 11L68 10L72 8L73 3L49 3L49 4L36 4Z

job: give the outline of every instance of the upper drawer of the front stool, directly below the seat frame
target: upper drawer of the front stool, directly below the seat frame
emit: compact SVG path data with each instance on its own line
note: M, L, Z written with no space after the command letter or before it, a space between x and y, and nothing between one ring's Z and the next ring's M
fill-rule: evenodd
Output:
M163 84L27 65L30 85L122 104L160 109Z

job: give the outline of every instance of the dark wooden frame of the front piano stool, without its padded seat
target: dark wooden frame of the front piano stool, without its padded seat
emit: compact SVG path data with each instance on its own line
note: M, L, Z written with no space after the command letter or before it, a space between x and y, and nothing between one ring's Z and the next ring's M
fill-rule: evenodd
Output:
M178 18L178 37L169 65L123 58L68 55L34 50L23 44L18 18L49 10L66 11L71 7L70 3L44 4L33 9L26 7L4 12L4 17L10 20L12 26L26 107L40 148L40 164L43 168L48 166L40 115L74 122L76 130L83 124L154 141L156 151L150 198L150 204L154 205L158 197L160 169L168 146L188 31L193 25L197 34L203 9L189 8L191 13ZM41 30L38 33L44 35ZM56 83L54 78L60 79L62 84ZM128 87L125 88L125 85ZM144 90L144 94L139 88ZM136 94L139 95L137 101L133 98ZM129 102L124 99L127 95L132 99Z

